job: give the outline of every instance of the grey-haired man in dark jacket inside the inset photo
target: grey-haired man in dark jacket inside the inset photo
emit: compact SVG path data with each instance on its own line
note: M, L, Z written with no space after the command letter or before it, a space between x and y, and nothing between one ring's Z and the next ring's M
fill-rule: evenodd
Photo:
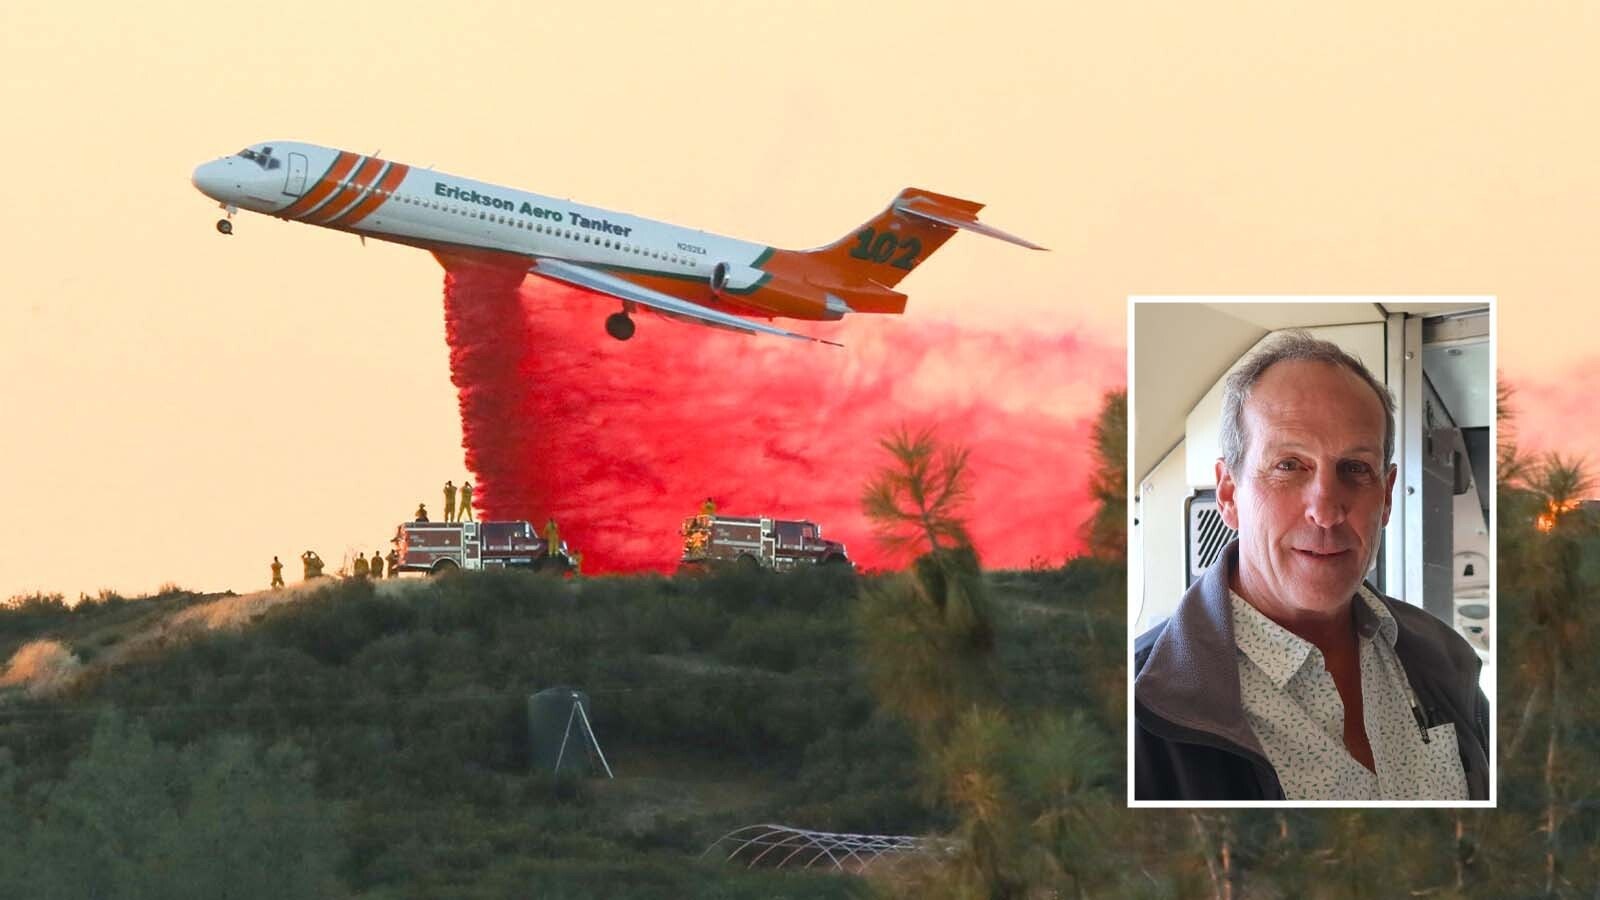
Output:
M1394 399L1302 331L1229 375L1216 498L1238 532L1134 645L1138 799L1488 799L1488 700L1450 626L1370 569Z

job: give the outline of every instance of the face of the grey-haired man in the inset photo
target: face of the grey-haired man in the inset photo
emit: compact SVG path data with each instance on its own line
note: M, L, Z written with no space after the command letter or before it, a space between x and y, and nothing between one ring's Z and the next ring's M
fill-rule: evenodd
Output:
M1288 617L1341 612L1389 522L1382 404L1344 367L1280 362L1251 389L1243 424L1237 477L1216 464L1240 593Z

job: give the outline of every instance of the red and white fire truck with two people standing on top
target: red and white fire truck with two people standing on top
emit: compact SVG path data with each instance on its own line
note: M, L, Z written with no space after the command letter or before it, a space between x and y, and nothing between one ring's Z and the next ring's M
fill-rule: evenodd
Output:
M478 569L571 572L566 541L549 552L530 522L405 522L395 528L400 572L443 575Z

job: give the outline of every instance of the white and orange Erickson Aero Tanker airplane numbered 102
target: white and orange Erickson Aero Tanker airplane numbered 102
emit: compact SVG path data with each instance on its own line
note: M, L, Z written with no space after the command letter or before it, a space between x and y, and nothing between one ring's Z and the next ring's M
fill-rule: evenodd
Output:
M250 210L419 247L456 261L514 266L621 301L605 320L634 336L638 307L744 331L832 344L755 319L901 314L901 279L957 231L1045 250L978 221L982 203L907 187L877 216L814 250L778 250L627 213L298 141L251 144L194 171L194 186ZM837 346L837 344L835 344Z

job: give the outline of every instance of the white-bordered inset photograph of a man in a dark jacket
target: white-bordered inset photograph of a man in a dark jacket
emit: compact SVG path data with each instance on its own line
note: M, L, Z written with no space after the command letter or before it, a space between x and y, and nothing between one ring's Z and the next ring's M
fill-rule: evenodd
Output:
M1130 806L1494 804L1493 309L1130 298Z

